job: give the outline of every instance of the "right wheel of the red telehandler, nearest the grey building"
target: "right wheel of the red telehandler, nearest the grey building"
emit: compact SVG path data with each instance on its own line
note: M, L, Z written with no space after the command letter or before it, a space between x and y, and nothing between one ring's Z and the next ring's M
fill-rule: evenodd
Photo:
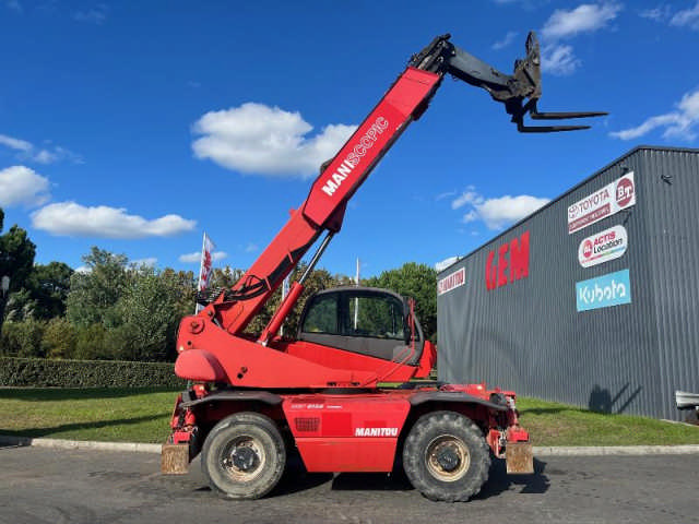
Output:
M488 479L490 452L478 427L454 412L423 415L403 445L411 484L430 500L465 502Z

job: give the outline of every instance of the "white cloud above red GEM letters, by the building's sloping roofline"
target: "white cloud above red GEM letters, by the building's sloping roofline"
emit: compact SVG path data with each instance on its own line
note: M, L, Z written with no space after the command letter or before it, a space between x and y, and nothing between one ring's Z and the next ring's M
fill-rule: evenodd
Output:
M502 229L508 224L518 222L547 204L549 199L520 194L506 194L497 199L485 199L475 191L466 191L451 203L452 210L464 205L470 209L462 216L464 224L482 221L488 229Z

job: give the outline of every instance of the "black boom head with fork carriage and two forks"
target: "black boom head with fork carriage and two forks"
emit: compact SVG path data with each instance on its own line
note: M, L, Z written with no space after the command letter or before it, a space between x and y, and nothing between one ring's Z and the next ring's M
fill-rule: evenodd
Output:
M526 37L526 56L514 61L514 71L505 74L449 41L451 35L436 37L425 49L413 55L408 66L438 74L451 74L473 86L487 91L494 100L505 104L511 121L523 133L550 133L577 131L590 126L525 126L529 114L533 120L565 120L607 115L601 111L540 112L542 96L541 50L536 34Z

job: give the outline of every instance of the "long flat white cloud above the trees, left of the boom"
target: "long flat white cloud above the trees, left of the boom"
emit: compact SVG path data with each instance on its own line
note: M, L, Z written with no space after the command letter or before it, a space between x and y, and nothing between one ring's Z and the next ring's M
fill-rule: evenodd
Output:
M75 202L58 202L32 213L32 225L56 236L135 239L191 231L197 222L179 215L149 221L129 215L123 207L86 207Z

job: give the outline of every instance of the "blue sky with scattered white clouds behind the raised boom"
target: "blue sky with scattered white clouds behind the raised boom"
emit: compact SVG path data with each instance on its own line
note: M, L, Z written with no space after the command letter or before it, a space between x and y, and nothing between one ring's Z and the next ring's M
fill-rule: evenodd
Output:
M0 0L0 206L36 261L91 246L159 267L247 267L437 34L511 72L529 29L542 110L606 110L523 135L446 81L350 204L321 261L365 276L465 254L640 143L696 147L699 1ZM188 257L190 255L190 257Z

